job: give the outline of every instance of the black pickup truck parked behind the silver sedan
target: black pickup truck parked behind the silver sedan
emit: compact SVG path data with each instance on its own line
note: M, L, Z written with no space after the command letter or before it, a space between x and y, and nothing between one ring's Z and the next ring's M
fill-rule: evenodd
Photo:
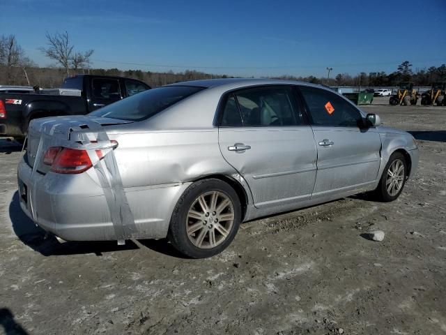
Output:
M0 136L20 141L32 119L87 114L150 88L123 77L75 75L67 77L61 89L36 89L36 94L0 92Z

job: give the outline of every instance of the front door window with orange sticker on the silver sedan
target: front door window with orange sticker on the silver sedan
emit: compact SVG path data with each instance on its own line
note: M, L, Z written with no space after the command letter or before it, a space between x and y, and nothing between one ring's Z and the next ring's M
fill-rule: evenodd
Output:
M314 126L357 126L360 112L337 94L316 87L300 87Z

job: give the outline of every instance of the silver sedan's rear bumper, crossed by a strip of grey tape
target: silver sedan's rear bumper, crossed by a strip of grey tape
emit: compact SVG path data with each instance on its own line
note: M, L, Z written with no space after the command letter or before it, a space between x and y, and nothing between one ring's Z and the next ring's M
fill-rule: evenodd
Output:
M116 239L104 191L88 173L35 173L33 180L31 174L22 159L17 170L20 207L41 228L67 241ZM190 184L125 188L137 229L132 238L166 237L171 213Z

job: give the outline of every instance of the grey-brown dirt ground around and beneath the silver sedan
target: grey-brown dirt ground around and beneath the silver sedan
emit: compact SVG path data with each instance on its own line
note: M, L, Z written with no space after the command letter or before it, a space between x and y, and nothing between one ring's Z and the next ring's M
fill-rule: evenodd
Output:
M0 140L0 334L446 334L446 107L362 108L417 138L397 201L245 223L206 260L164 240L43 239L18 204L20 147Z

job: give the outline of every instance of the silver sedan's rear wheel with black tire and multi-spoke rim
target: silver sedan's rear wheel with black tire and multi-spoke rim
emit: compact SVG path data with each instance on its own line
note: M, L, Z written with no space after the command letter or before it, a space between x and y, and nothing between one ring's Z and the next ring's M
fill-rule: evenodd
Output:
M229 184L220 179L196 181L175 206L169 240L180 253L190 258L208 258L231 244L240 221L240 200Z

